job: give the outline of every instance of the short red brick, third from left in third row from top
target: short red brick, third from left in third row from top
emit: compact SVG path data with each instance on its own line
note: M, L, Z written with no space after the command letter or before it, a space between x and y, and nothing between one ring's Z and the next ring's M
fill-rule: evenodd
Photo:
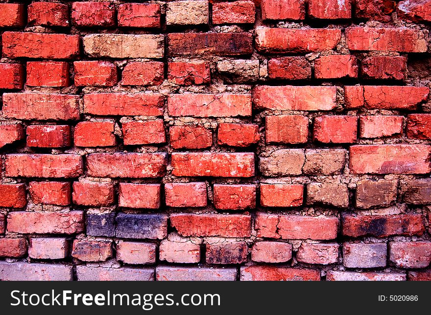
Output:
M117 84L117 67L106 61L75 61L75 86L113 87Z

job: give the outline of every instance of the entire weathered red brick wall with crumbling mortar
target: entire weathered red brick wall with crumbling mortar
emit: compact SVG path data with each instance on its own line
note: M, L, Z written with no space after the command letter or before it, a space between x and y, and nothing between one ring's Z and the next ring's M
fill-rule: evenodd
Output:
M0 3L0 280L431 279L427 0Z

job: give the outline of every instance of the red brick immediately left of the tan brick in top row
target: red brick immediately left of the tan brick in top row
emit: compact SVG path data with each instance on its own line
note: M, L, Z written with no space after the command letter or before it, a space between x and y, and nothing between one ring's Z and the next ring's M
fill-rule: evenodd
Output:
M118 26L160 28L160 4L120 4L118 6Z

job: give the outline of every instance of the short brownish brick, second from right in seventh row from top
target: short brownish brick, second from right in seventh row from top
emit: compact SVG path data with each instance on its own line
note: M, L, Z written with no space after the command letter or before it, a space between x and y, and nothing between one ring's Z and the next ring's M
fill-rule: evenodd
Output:
M397 199L397 186L396 180L361 180L356 189L356 206L364 209L388 206Z

